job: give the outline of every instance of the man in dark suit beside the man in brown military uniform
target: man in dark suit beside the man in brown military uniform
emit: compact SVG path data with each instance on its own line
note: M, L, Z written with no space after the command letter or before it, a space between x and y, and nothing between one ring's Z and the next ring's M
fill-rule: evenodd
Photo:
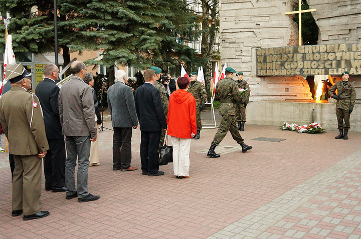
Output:
M59 87L55 81L59 78L59 68L46 64L43 68L45 79L39 82L36 95L43 109L45 132L49 150L44 158L45 190L65 192L65 142L61 134L59 115Z

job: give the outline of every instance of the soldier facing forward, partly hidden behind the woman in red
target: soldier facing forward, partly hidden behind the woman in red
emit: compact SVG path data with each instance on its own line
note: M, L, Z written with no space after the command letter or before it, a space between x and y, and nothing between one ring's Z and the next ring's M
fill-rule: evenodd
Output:
M194 96L194 98L196 98L197 134L194 136L194 139L199 139L202 130L201 111L205 108L207 92L204 84L197 81L196 72L192 72L189 76L191 79L191 83L188 88L188 92L190 92Z

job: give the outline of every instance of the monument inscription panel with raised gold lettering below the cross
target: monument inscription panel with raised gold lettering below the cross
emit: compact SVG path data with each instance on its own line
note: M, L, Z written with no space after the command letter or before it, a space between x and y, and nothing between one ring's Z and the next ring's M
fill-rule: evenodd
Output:
M258 48L257 76L361 75L361 44Z

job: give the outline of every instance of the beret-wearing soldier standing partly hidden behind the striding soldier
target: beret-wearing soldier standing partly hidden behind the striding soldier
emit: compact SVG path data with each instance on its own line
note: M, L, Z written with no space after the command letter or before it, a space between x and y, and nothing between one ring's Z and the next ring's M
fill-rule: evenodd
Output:
M238 130L244 131L244 124L246 123L246 106L249 101L249 95L251 90L247 81L243 80L243 72L238 72L236 74L238 78L238 90L244 92L244 103L237 103L235 104L235 111L236 111L236 120L238 123ZM242 90L243 89L243 90Z

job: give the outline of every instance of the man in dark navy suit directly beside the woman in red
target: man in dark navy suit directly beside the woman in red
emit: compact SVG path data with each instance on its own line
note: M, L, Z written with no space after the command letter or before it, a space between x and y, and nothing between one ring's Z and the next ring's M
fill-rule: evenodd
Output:
M166 130L167 125L159 91L154 87L155 71L145 70L143 76L145 83L135 91L135 110L141 131L141 169L143 175L159 176L164 172L159 171L156 150L160 132Z

